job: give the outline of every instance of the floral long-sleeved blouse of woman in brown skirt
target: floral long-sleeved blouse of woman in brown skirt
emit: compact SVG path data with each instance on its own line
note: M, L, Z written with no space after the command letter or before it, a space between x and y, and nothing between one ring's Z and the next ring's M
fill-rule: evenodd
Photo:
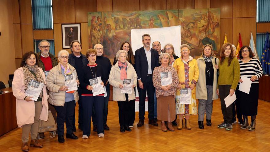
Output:
M169 89L169 91L164 91L161 89L160 72L172 72L172 84L170 84L171 88ZM173 68L172 66L164 67L160 65L159 67L156 67L153 71L153 84L154 84L154 87L156 88L157 98L159 97L159 95L164 95L164 96L173 95L175 97L176 87L178 85L178 82L179 82L179 79L178 79L177 72L175 68Z

